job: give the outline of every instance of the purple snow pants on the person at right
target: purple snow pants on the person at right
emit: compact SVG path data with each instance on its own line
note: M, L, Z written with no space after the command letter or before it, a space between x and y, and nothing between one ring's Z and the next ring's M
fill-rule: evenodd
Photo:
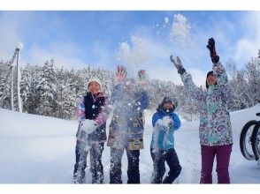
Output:
M231 145L223 146L201 146L202 149L202 174L201 183L212 183L212 168L216 155L218 183L230 183L228 166L230 154L232 152Z

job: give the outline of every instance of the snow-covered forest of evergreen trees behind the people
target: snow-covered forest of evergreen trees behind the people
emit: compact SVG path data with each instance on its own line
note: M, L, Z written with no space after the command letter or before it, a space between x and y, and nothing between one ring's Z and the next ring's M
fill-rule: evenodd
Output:
M241 70L236 68L236 64L232 60L224 63L232 86L230 111L250 108L260 101L260 50L258 55L251 58ZM0 99L3 98L9 63L0 60ZM170 61L169 65L171 65ZM116 84L114 71L104 71L91 66L77 71L65 70L57 68L54 59L47 60L43 65L27 64L21 68L20 74L19 91L22 112L68 120L75 118L77 99L86 93L89 78L100 78L103 83L103 92L108 97L111 95L112 87ZM10 80L5 87L2 108L11 109ZM14 87L17 88L15 85ZM187 121L198 119L199 111L196 103L189 97L184 86L175 85L171 81L149 78L148 75L146 89L149 93L150 109L157 108L165 95L171 95L178 101L177 109L184 119ZM205 86L201 86L201 89L205 89ZM13 89L14 101L18 101L16 91L17 89ZM18 103L14 103L14 106L17 109Z

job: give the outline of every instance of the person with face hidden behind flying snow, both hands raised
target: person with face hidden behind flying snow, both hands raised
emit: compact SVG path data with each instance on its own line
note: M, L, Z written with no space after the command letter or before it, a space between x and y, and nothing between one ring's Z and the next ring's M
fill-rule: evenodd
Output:
M139 72L145 77L145 71ZM140 183L139 156L143 149L143 110L149 106L149 97L140 81L134 88L134 79L126 78L124 66L118 66L116 78L119 82L111 94L113 116L110 124L108 146L111 147L110 183L122 182L122 156L126 149L128 160L127 183ZM142 84L141 84L142 83Z

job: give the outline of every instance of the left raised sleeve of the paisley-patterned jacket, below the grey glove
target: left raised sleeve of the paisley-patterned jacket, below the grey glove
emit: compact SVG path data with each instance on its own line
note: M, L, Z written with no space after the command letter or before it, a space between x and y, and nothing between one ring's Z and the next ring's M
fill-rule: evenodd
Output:
M191 94L192 98L194 98L196 101L203 101L204 92L199 87L195 86L191 75L185 72L180 75L180 78L184 86L186 86L188 93Z

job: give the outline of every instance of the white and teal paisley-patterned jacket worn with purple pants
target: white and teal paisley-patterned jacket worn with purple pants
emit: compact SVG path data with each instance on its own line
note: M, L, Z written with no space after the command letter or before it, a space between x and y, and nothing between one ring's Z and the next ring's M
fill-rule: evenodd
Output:
M181 75L182 82L200 108L200 143L203 146L221 146L233 143L230 116L227 102L230 98L230 86L221 63L213 64L217 85L203 91L195 86L190 74Z

